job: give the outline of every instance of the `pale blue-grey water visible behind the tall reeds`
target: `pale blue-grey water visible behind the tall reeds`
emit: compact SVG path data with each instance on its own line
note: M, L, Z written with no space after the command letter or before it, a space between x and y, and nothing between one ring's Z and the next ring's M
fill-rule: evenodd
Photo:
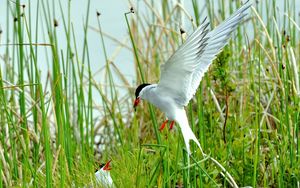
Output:
M284 12L284 1L285 0L277 0L276 4L278 7L278 12L283 15ZM25 1L21 0L21 4L27 5L31 7L31 19L35 20L37 15L42 17L42 9L39 8L39 12L37 13L37 4L38 0L31 0L31 1ZM50 1L52 2L52 1ZM148 2L148 3L145 3ZM124 0L112 0L112 1L106 1L106 0L91 0L90 1L90 11L89 15L86 15L87 8L88 8L88 1L79 1L79 0L72 0L71 1L71 12L70 12L70 19L72 22L72 25L75 30L75 38L78 51L82 52L83 47L83 40L84 40L84 21L86 17L89 18L89 29L88 29L88 46L90 51L90 62L91 62L91 68L92 72L95 74L95 78L97 81L101 83L101 73L98 74L103 67L105 66L105 58L103 55L103 50L101 47L101 41L99 37L99 32L95 31L98 30L98 23L97 23L97 16L96 12L101 13L101 26L102 30L105 34L109 35L109 37L105 38L105 44L106 44L106 51L108 53L108 57L111 61L114 62L114 64L119 68L119 70L123 73L123 75L127 78L128 82L132 84L132 87L136 85L136 75L134 72L134 59L133 55L128 48L131 48L131 43L129 41L129 35L128 35L128 29L126 27L126 22L124 18L124 13L128 12L130 7L134 7L134 9L138 9L139 14L143 14L145 17L149 16L147 15L147 5L154 5L157 7L160 7L160 3L163 1L154 1L154 3L151 3L152 1L124 1ZM198 4L201 7L201 15L202 19L207 16L205 3L206 1L198 1ZM261 1L256 0L253 1L253 5L259 5L259 6L266 6L265 2L267 1ZM169 1L170 7L183 7L186 10L186 13L190 16L193 16L193 9L192 9L192 1L187 0L172 0ZM215 6L215 11L219 11L220 1L214 1L213 4ZM1 0L0 1L0 28L2 29L2 34L0 36L0 56L3 58L3 54L5 53L5 45L3 44L13 44L12 35L13 33L7 32L7 28L9 28L9 25L13 24L13 16L11 14L12 10L8 10L9 5L8 4L14 4L14 1L12 0ZM41 4L41 3L40 3ZM62 7L64 10L68 10L68 1L61 1ZM51 5L51 3L50 3ZM11 6L11 5L10 5ZM41 6L41 5L40 5ZM58 1L56 2L56 7L50 7L52 11L56 12L57 17L55 18L58 22L59 26L57 27L57 37L58 37L58 45L61 48L61 50L66 49L66 38L65 33L63 30L63 20L60 15L59 7L58 7ZM292 8L292 7L291 7ZM159 10L159 9L158 9ZM265 10L265 9L263 9ZM25 8L25 11L28 11L28 8ZM228 10L225 10L228 13ZM298 14L298 21L296 22L299 25L299 17L300 17L300 1L296 1L296 12ZM227 14L228 15L228 14ZM272 14L271 14L272 15ZM263 18L267 18L268 14L265 12L263 14ZM7 17L9 17L7 19ZM179 16L180 17L180 16ZM282 16L283 17L283 16ZM41 23L43 19L39 19L39 24L42 26L45 23ZM181 15L181 20L172 20L172 22L177 23L178 28L172 28L175 31L179 32L179 28L183 28L188 33L191 33L193 31L193 26L191 24L191 21L189 17L186 14ZM34 22L31 24L35 24ZM149 23L151 24L151 23ZM152 23L155 24L155 23ZM8 26L8 27L7 27ZM45 25L43 26L44 29L39 29L38 33L38 42L39 43L47 43L48 38L45 38L45 35L43 33L46 32ZM11 29L11 27L10 27ZM35 30L32 30L32 35L36 36ZM115 39L115 40L112 40ZM119 42L116 42L119 41ZM27 41L28 43L28 41ZM124 45L121 47L121 45ZM127 48L128 47L128 48ZM41 49L44 47L41 47ZM46 48L47 49L47 48ZM49 48L47 49L50 50ZM41 69L41 75L45 79L47 76L47 71L49 70L49 65L46 60L46 51L47 50L40 50L38 57L38 64ZM0 61L0 65L3 67L3 61ZM2 68L2 70L5 70ZM51 67L50 67L51 70ZM116 78L117 79L117 78ZM118 81L116 81L118 83ZM120 91L122 93L122 90L120 88ZM124 94L124 93L123 93Z

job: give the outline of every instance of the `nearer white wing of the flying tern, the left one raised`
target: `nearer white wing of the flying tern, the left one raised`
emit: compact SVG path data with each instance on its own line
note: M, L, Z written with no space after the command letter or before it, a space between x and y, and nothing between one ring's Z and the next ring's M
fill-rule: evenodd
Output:
M207 45L208 25L205 18L167 62L161 65L157 89L162 95L173 98L179 105L185 105L189 101L187 92L193 72L199 64L198 59Z

